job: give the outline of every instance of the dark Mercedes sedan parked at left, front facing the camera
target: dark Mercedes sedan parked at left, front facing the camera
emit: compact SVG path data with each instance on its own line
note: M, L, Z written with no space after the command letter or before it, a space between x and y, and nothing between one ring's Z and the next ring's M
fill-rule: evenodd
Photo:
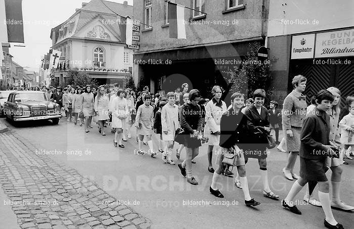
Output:
M52 120L58 124L62 117L59 104L48 101L41 91L14 91L4 104L7 120L19 122L29 120Z

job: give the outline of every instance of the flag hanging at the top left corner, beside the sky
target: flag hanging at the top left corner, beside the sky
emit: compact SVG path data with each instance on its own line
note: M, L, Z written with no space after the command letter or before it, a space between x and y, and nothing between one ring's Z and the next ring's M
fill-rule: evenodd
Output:
M0 42L24 43L22 0L0 0Z

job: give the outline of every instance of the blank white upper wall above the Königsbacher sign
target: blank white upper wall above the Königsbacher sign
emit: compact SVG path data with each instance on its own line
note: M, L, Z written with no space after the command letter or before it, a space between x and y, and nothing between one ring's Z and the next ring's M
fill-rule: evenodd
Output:
M268 36L353 26L353 9L353 0L271 0ZM295 24L296 19L310 24ZM287 25L286 20L293 24Z

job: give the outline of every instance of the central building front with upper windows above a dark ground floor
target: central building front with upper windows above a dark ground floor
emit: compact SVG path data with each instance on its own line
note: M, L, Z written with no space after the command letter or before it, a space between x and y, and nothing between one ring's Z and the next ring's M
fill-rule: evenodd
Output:
M264 44L269 1L181 0L178 4L203 12L185 8L187 39L169 38L167 3L134 1L134 19L147 24L140 25L140 46L134 52L135 82L145 78L152 92L174 91L189 83L204 96L213 85L227 88L227 72L239 66L249 45Z

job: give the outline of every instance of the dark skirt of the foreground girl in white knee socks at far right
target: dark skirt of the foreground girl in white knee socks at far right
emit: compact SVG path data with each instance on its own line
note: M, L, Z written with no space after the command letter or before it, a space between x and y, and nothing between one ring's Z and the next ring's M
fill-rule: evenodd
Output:
M300 157L300 177L306 181L325 182L326 177L326 158L321 160L312 160Z

